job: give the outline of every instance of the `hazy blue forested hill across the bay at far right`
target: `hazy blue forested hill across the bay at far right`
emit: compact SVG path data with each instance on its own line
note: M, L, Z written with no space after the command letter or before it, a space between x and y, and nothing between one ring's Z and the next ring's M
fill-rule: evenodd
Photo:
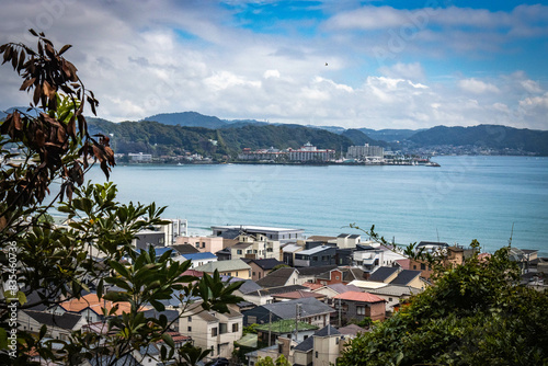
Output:
M518 129L499 125L473 127L437 126L409 138L421 147L452 145L492 149L515 149L548 156L548 131Z

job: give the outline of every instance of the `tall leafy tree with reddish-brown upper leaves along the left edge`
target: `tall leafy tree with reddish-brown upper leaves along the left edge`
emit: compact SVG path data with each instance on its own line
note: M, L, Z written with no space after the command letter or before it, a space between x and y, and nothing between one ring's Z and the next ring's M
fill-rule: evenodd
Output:
M227 305L240 300L232 295L240 284L222 283L218 273L185 275L190 262L132 247L140 229L164 224L164 207L119 204L114 184L84 183L94 163L106 178L115 165L109 138L90 136L83 116L85 104L95 114L99 102L64 58L70 46L56 50L43 33L30 32L36 50L13 43L0 47L3 62L24 80L21 90L32 94L30 108L13 111L0 126L0 364L28 365L37 354L65 365L85 359L113 365L158 343L159 362L193 365L208 351L175 350L167 331L176 319L170 323L163 314L145 317L141 310L161 312L163 300L176 298L182 313L192 298L201 298L204 311L226 312ZM47 219L56 205L69 218L66 228ZM103 331L82 328L69 340L53 340L45 325L38 334L18 329L20 311L50 308L93 290L116 304L103 308ZM128 310L116 316L122 304Z

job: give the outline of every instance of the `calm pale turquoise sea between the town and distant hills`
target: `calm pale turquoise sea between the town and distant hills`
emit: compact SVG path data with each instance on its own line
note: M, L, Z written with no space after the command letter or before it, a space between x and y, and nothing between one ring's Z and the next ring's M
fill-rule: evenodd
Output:
M357 233L355 222L397 243L478 239L486 251L512 235L548 256L548 158L434 160L442 167L119 165L111 180L121 202L168 206L195 235L229 224L336 236ZM90 178L104 181L99 169Z

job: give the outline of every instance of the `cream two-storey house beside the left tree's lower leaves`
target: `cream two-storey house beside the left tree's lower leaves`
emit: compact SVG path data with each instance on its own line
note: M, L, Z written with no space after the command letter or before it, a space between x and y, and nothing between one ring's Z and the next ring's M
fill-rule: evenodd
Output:
M242 336L243 316L232 309L228 313L205 311L202 301L192 304L179 319L179 329L190 335L194 345L212 350L208 358L231 357L233 343Z

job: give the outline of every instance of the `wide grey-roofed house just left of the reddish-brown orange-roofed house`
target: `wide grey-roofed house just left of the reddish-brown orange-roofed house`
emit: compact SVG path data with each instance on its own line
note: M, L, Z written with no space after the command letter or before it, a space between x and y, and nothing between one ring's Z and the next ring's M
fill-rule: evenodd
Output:
M300 321L324 327L329 323L331 312L334 312L334 310L330 306L308 297L283 302L266 304L243 311L242 313L244 325L298 318Z

